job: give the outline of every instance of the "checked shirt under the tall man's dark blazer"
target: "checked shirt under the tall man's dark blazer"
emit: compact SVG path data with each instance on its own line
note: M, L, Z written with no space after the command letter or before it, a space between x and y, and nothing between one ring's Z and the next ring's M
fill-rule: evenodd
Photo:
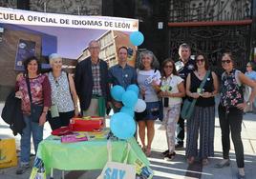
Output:
M94 95L102 95L102 89L100 86L100 67L99 67L99 63L97 63L96 65L92 63L92 73L93 73L93 94Z

